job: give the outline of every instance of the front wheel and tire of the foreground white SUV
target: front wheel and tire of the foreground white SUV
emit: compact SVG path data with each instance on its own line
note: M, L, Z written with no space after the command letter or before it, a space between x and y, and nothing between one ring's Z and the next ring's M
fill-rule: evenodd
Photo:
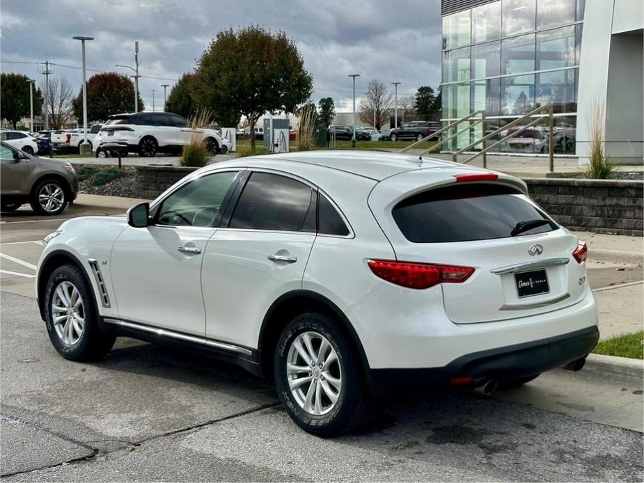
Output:
M114 345L116 337L100 331L92 287L78 267L62 265L52 272L43 303L49 340L64 358L97 361Z

